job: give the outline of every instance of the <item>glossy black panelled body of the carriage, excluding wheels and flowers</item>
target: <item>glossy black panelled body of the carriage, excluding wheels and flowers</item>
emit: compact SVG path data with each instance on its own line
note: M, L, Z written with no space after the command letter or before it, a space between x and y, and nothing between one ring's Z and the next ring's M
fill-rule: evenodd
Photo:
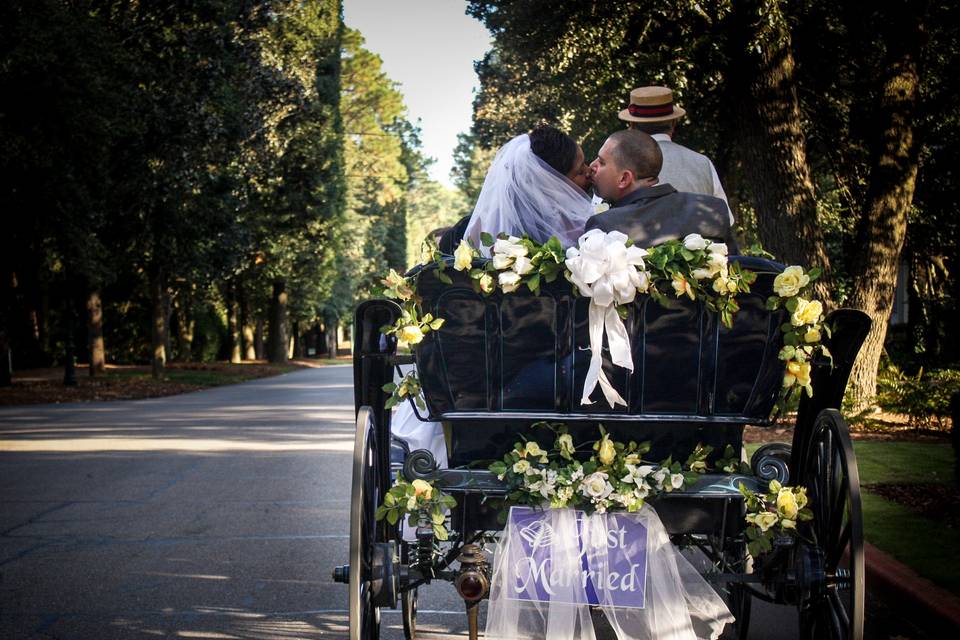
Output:
M406 456L402 473L408 480L434 481L457 498L450 521L460 544L502 526L490 498L502 496L503 485L486 470L486 464L478 463L499 459L521 436L549 448L550 432L531 429L537 421L563 422L577 442L595 440L602 424L614 440L649 441L649 457L657 460L668 455L685 457L696 444L703 443L713 447L710 463L728 446L741 451L745 425L770 423L783 380L778 353L782 346L780 325L787 316L782 310L768 310L766 300L782 266L759 258L731 260L758 278L749 293L738 295L740 310L730 328L722 326L702 302L656 302L643 296L630 305L624 325L630 337L633 372L614 366L604 354L603 369L626 401L626 406L617 408L607 405L599 389L593 394L595 402L581 403L591 356L587 330L590 301L577 296L570 283L559 278L544 285L538 295L518 291L486 296L474 290L469 278L452 270L445 271L452 275L452 284L438 279L435 267L418 272L417 292L423 298L424 312L445 320L443 327L428 333L415 350L427 406L421 413L425 420L443 422L450 468L436 469L432 456L418 451ZM364 432L363 437L375 441L373 446L366 446L365 453L357 454L366 456L363 464L367 468L375 467L375 478L367 478L368 506L389 488L391 478L391 416L384 406L388 394L382 387L394 378L398 365L414 361L410 356L398 356L395 338L381 331L399 313L392 301L375 300L361 305L356 315L358 439ZM771 588L756 584L761 579L747 575L744 503L738 486L757 489L770 479L783 484L803 481L804 469L810 466L811 439L823 422L821 411L839 407L850 367L869 327L869 320L859 312L840 311L831 321L834 332L829 344L834 362L815 367L815 393L813 398L801 401L792 447L763 447L751 461L752 474L703 474L693 486L649 501L675 542L698 546L717 574L725 576L721 579L726 580L724 588L732 595L731 608L736 609L734 614L740 623L734 632L737 635L745 632L749 615L747 590L758 593L762 589L771 599L794 602L801 610L810 608L810 602L805 601L810 598L805 586ZM855 474L855 462L853 471ZM354 520L360 523L357 517ZM361 545L384 545L395 540L400 547L395 557L409 557L407 543L385 523L368 524L366 531ZM387 563L390 553L384 547L378 562ZM455 555L449 555L447 565ZM821 555L826 557L830 552ZM790 562L798 561L806 560L791 556ZM817 561L813 564L825 575L826 569ZM410 606L404 600L410 597L409 585L423 576L412 564L403 567L394 563L391 570L403 576L386 589L393 593L384 595L381 589L379 599L368 594L366 606L374 601L393 606L398 599ZM457 579L457 574L433 571L427 579L437 577ZM862 589L862 565L858 578ZM822 576L818 579L824 581ZM747 587L748 583L754 586ZM860 599L862 618L862 594ZM364 606L362 602L360 606ZM365 635L364 628L370 625L362 624L372 617L364 618L364 611L353 609L351 602L351 617L356 615L361 622L356 625L356 637L375 637ZM405 615L405 627L408 622L412 624ZM862 628L862 620L859 625ZM857 623L847 626L854 628ZM351 621L352 633L354 627ZM856 636L854 630L849 637Z

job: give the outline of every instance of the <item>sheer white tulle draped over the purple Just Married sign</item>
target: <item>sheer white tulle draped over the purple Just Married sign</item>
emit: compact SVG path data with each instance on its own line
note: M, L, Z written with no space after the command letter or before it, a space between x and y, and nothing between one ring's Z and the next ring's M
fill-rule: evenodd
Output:
M549 548L552 572L566 575L581 567L581 549L577 534L577 512L550 509L546 522L552 528ZM613 605L610 591L598 594L600 608L621 640L695 640L715 639L733 616L723 600L674 547L656 512L649 506L633 514L594 514L583 517L582 552L590 569L598 576L608 575L607 531L610 518L635 518L647 528L646 588L644 607ZM487 611L486 638L520 640L595 640L586 589L579 580L554 583L550 602L519 599L520 586L509 570L526 562L518 527L509 522L494 557L490 605ZM628 555L636 549L627 545ZM532 586L526 594L535 594Z

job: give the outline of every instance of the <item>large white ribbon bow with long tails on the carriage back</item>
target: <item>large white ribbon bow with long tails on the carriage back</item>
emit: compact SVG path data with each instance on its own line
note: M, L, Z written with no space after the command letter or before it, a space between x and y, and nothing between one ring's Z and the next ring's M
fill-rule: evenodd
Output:
M633 371L630 337L617 314L617 305L633 302L637 291L646 292L650 279L644 271L643 256L647 252L639 247L627 247L626 241L627 236L619 231L604 233L591 229L580 236L578 247L567 249L565 264L570 281L582 295L590 298L590 366L580 404L592 404L590 394L599 384L612 408L617 404L627 405L603 372L602 354L606 334L614 364Z

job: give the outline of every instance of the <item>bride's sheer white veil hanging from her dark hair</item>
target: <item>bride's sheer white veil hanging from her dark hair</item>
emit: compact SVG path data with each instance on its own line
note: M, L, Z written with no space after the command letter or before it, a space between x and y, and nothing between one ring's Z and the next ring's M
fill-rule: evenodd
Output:
M564 247L577 241L593 215L590 197L530 149L527 134L517 136L497 152L464 237L485 255L490 248L481 233L496 237L527 234L543 243L556 236Z

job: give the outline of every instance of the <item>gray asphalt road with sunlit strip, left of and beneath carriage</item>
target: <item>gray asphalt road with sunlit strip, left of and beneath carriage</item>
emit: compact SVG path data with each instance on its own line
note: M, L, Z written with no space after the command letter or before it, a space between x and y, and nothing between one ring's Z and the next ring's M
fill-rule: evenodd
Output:
M353 431L348 366L0 410L0 638L346 637ZM796 619L760 603L750 637ZM452 586L421 589L418 627L465 637Z

